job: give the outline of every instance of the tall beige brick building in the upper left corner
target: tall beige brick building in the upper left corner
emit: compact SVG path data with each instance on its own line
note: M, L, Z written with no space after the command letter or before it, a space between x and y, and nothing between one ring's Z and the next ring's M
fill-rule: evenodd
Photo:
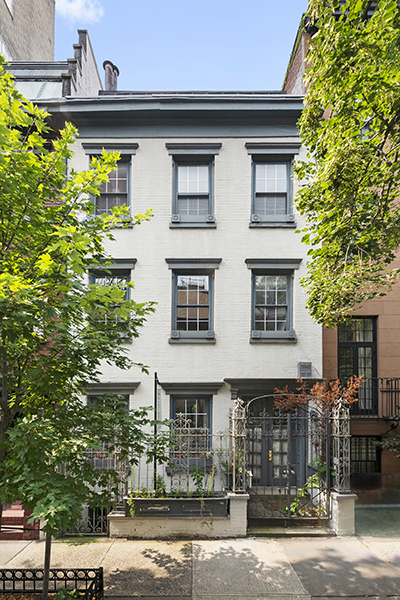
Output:
M0 0L0 53L11 60L54 59L55 0Z

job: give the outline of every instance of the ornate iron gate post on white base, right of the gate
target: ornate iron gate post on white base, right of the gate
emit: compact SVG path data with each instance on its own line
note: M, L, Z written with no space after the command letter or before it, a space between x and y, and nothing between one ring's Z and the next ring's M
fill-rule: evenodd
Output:
M334 490L331 526L338 535L354 535L357 496L350 489L350 410L340 401L332 410Z

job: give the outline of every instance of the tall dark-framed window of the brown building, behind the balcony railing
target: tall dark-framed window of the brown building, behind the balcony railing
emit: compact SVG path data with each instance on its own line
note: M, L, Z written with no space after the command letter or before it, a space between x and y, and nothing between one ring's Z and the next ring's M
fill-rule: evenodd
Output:
M363 375L358 402L352 411L375 414L378 410L376 318L354 317L338 327L338 376Z

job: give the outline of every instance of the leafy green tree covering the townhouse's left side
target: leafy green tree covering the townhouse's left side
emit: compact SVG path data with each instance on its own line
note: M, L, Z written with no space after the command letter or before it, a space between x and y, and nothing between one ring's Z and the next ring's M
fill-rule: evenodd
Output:
M48 116L17 92L0 60L0 509L20 499L45 517L50 536L82 499L95 501L95 486L104 503L117 483L116 471L90 468L89 447L107 443L127 457L145 443L146 411L89 411L80 397L102 361L132 366L121 336L137 337L154 303L128 300L132 283L88 283L88 270L107 269L112 227L140 225L150 212L96 216L92 197L118 153L69 171L77 131L67 124L55 135Z

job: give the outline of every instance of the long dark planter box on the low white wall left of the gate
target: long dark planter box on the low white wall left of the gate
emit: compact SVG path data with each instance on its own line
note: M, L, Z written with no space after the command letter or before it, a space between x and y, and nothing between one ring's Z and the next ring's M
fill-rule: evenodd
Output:
M130 517L125 498L125 516ZM135 517L227 517L229 499L220 498L135 498Z

